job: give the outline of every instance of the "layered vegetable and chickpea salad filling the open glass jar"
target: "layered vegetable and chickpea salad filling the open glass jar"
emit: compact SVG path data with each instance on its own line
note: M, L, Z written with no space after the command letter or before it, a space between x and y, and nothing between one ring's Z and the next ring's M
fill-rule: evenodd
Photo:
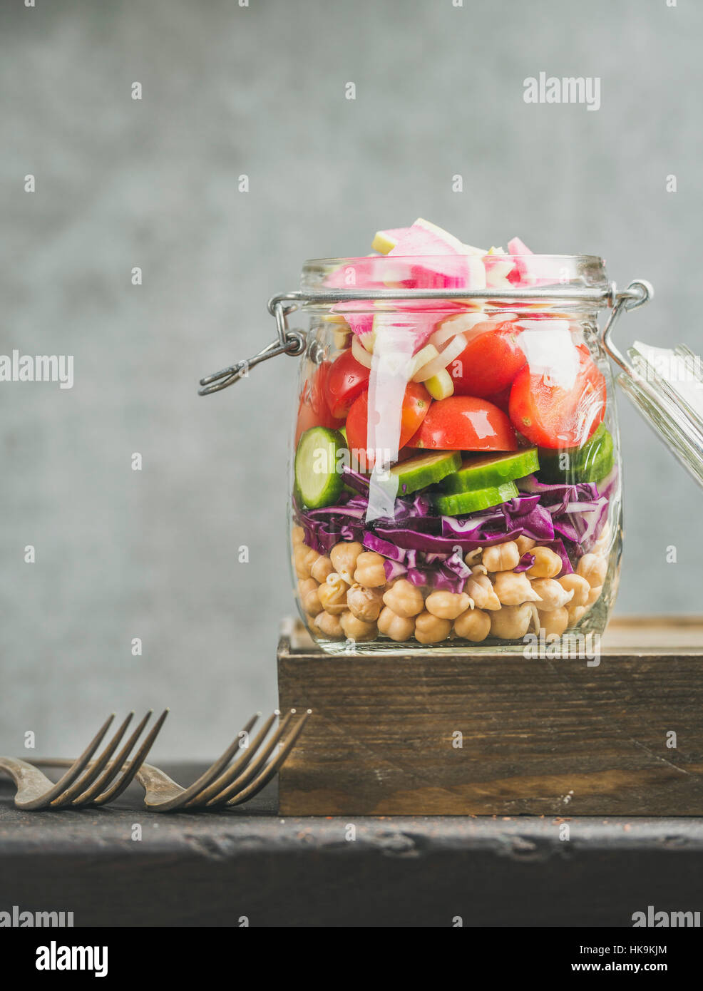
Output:
M607 613L620 536L608 370L590 318L527 301L559 284L555 257L518 238L482 251L421 219L372 248L351 283L347 265L325 285L486 297L339 302L320 318L293 460L309 631L322 644L506 644ZM492 299L502 287L527 300Z

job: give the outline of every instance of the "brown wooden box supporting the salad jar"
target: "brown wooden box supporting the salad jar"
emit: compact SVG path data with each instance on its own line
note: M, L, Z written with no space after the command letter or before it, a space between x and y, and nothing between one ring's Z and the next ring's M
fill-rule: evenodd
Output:
M278 665L281 709L313 711L282 814L703 815L701 617L614 619L598 667L329 656L290 622Z

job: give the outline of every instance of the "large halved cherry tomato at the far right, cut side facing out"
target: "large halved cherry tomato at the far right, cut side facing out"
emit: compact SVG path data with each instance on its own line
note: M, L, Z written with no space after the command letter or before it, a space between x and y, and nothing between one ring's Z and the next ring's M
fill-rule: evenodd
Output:
M516 429L539 447L580 447L602 422L606 381L584 344L576 346L578 369L573 385L532 374L526 365L513 383L510 417ZM556 380L556 376L554 376Z

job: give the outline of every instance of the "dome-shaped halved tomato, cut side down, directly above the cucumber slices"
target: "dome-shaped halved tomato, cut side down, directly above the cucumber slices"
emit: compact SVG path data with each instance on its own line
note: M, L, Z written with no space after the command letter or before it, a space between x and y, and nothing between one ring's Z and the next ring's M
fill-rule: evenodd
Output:
M516 451L518 439L503 410L473 395L433 402L409 447L432 451Z

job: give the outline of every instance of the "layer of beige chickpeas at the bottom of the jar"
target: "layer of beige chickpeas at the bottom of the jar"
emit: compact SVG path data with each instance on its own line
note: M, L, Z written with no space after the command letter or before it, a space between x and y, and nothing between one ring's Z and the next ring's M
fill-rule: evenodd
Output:
M369 642L381 636L428 645L449 637L515 640L530 628L561 635L600 599L611 543L604 531L569 574L562 574L558 554L528 537L479 547L464 556L471 575L449 592L404 577L389 582L386 559L357 541L340 541L320 554L306 546L304 534L293 527L293 568L310 627L328 639ZM532 564L516 571L527 553Z

